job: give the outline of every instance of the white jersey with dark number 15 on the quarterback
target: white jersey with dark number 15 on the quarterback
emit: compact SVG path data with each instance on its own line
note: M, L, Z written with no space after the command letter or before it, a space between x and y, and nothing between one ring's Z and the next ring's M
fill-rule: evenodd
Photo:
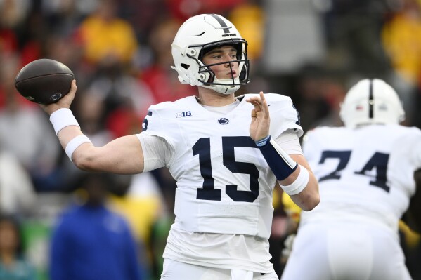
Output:
M241 242L260 244L265 258L257 260L261 262L257 265L250 262L247 268L268 271L267 239L276 178L250 138L253 106L245 101L249 96L252 94L239 97L240 103L228 114L209 112L194 96L153 105L148 110L141 134L167 141L172 152L166 165L177 181L176 218L164 257L203 265L195 261L202 257L207 265L232 268L232 261L256 258L245 252L250 246L235 244L238 240L233 239L240 236ZM271 136L276 139L290 129L301 136L291 99L270 93L265 97L271 114ZM226 241L238 250L227 248ZM214 248L215 255L212 251L204 254L203 247ZM241 256L237 260L236 251ZM233 255L227 258L230 253Z

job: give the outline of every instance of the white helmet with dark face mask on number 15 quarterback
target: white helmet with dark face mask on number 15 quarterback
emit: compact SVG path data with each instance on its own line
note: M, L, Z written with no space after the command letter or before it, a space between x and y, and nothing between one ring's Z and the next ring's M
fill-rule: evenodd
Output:
M202 62L204 53L216 46L232 45L237 49L237 78L216 79L214 72ZM247 41L242 39L235 26L216 14L195 15L181 25L172 43L172 57L181 84L203 86L218 93L231 94L249 82ZM226 62L223 62L226 63ZM223 64L223 63L218 63ZM231 67L231 65L230 65Z

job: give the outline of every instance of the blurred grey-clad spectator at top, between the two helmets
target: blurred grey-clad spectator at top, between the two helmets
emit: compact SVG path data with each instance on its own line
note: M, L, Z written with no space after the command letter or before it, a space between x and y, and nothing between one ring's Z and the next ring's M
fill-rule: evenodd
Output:
M269 0L265 55L266 74L298 74L308 64L323 63L325 39L320 11L312 0Z

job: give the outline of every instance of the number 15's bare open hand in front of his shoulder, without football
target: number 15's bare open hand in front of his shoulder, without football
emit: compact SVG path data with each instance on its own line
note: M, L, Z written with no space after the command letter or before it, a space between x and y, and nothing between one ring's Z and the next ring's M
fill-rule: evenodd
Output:
M254 140L261 140L269 135L269 125L271 118L269 108L264 93L261 91L259 96L247 98L247 102L254 106L252 109L252 122L250 124L250 137Z

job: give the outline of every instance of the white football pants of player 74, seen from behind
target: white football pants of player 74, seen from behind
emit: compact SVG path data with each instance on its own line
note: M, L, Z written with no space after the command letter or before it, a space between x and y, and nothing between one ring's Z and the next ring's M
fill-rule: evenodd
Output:
M282 280L408 280L399 237L355 224L299 228Z

